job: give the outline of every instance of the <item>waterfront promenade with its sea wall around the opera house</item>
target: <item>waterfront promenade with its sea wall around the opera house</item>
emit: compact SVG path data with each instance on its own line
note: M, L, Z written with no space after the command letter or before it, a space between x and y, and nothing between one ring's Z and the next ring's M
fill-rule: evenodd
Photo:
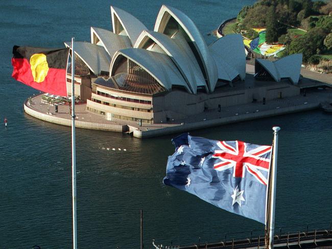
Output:
M247 64L248 81L252 77L254 66ZM302 69L304 76L300 87L318 87L321 85L332 85L330 75L319 74ZM319 79L319 80L317 80ZM292 112L311 110L319 108L324 101L332 102L332 89L306 90L306 95L298 95L289 98L269 100L265 104L254 102L242 105L208 109L199 115L189 116L185 119L174 120L168 123L145 124L139 126L137 122L115 120L109 121L105 116L93 114L86 110L86 104L77 104L75 108L76 127L116 132L130 132L137 138L156 137L164 134L185 132L193 129L206 128L210 126L223 125L235 122L243 122L276 115L289 114ZM71 126L69 105L59 105L58 112L55 106L42 103L42 95L33 97L24 104L27 114L51 123Z

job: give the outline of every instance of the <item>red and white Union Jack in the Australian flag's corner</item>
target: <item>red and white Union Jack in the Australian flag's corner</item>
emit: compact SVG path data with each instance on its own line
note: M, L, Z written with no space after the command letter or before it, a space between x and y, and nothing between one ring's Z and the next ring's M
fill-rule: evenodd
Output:
M260 184L267 185L272 146L248 144L241 141L220 141L220 150L213 157L220 159L214 169L224 171L233 168L233 177L245 177L245 171L253 175ZM267 172L267 174L263 174Z

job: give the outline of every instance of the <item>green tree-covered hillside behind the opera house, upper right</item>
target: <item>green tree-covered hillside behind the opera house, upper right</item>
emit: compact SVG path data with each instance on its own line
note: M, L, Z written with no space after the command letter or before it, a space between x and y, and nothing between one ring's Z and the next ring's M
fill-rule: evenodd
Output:
M259 0L244 6L233 31L249 39L253 28L266 28L266 42L282 43L278 56L302 53L303 62L318 64L332 56L332 0Z

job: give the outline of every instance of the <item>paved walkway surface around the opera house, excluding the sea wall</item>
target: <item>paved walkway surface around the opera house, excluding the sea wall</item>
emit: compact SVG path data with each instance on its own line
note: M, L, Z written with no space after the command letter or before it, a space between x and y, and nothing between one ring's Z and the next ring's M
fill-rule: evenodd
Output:
M248 80L245 83L239 83L237 87L247 87L245 84L262 84L259 82L253 82L251 78L253 78L252 74L254 72L254 65L247 64L246 71L248 73ZM301 86L319 86L322 84L329 85L332 87L332 76L326 74L320 74L316 72L312 72L306 69L301 70L301 74L304 76L301 82ZM322 83L323 82L323 83ZM236 84L236 83L235 83ZM241 86L243 84L243 86ZM269 100L263 105L262 102L255 103L247 103L242 105L235 106L227 106L222 107L221 111L218 112L217 109L209 109L207 111L202 112L199 115L189 116L185 119L175 120L168 123L162 124L146 124L140 127L137 122L130 121L108 121L105 119L105 116L97 115L92 112L86 110L86 104L76 104L75 106L75 114L77 120L85 121L85 122L93 122L93 123L103 123L103 124L115 124L115 125L130 125L137 129L146 130L146 129L160 129L163 127L172 127L180 125L181 123L195 123L199 121L212 120L218 118L225 118L237 115L245 115L252 112L278 109L289 106L303 105L306 103L317 103L323 101L332 101L332 88L326 88L324 90L319 89L307 89L306 96L298 95L289 98L275 99ZM69 104L66 103L64 105L58 106L58 113L55 112L55 106L50 104L42 103L42 95L32 97L31 103L28 106L34 110L37 110L43 114L53 115L59 118L70 119L69 115Z

